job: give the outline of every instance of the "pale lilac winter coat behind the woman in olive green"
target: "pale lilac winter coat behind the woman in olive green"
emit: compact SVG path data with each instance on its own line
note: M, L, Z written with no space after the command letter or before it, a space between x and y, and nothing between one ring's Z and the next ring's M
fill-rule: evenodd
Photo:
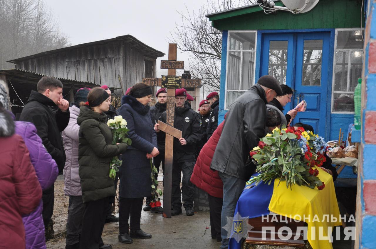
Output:
M79 114L78 107L75 105L69 107L69 123L61 133L66 156L63 169L64 193L73 196L82 195L81 180L78 175L78 132L80 126L77 124L77 117Z

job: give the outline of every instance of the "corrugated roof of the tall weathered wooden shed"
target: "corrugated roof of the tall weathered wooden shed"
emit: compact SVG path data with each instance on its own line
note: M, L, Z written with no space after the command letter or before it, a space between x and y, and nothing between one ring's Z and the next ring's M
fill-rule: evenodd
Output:
M138 40L136 37L131 36L130 34L126 34L124 36L117 36L117 37L111 38L111 39L97 40L95 42L82 43L82 44L78 44L78 45L74 45L74 46L54 49L54 50L50 50L50 51L44 51L44 52L41 52L41 53L38 53L38 54L32 54L32 55L28 55L28 56L25 56L25 57L8 60L7 62L17 63L17 62L22 62L24 60L28 60L30 58L42 57L42 56L45 56L45 55L55 54L55 53L58 53L58 52L67 51L67 50L74 49L74 48L82 48L82 47L87 47L87 46L102 45L103 43L112 42L112 41L119 41L119 40L132 43L132 44L136 45L136 47L138 47L139 49L146 49L147 51L152 53L152 55L155 55L156 58L162 57L163 55L165 55L164 52L161 52L159 50L156 50L155 48L152 48L151 46L146 45L145 43Z

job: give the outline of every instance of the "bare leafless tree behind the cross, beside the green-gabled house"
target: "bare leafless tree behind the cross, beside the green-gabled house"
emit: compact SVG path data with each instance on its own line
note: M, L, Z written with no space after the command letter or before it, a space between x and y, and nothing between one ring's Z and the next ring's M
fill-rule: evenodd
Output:
M178 11L182 23L175 25L168 39L177 43L181 51L190 52L188 69L209 90L220 87L222 31L212 27L205 15L253 3L254 0L208 0L198 12L187 6L184 12Z

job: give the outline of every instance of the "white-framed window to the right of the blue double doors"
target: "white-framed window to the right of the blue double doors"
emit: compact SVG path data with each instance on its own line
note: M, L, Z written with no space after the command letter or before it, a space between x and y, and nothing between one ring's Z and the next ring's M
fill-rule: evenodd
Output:
M332 112L354 112L354 90L362 76L363 39L358 29L336 30Z

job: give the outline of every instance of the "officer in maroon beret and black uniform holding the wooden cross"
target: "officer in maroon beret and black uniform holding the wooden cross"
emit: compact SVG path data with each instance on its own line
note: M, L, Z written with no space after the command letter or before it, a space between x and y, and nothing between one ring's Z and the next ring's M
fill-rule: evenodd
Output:
M194 215L193 199L194 185L191 183L193 167L196 163L194 153L196 143L202 138L200 121L197 113L185 106L186 90L176 89L175 91L175 118L174 127L182 131L180 139L174 138L173 168L172 168L172 207L171 215L182 213L182 202L180 200L180 175L183 172L183 206L187 216ZM166 123L166 112L160 118ZM154 129L160 133L159 124ZM165 133L163 133L165 135Z

